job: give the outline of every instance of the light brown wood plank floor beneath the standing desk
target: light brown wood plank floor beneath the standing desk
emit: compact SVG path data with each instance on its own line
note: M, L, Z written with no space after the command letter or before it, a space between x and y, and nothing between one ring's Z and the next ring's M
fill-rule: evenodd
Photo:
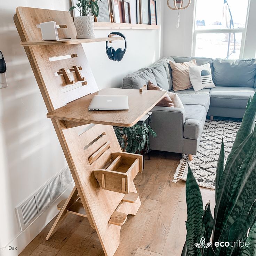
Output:
M173 183L180 154L152 152L134 183L142 205L122 226L115 256L179 256L186 236L185 182ZM204 205L214 190L201 188ZM56 217L55 217L56 218ZM69 214L49 241L46 235L55 218L22 251L20 256L104 256L95 230L87 218Z

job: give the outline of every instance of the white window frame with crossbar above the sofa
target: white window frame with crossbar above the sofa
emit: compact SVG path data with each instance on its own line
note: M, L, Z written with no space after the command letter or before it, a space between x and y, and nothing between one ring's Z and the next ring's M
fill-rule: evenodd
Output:
M245 50L245 39L246 39L246 32L247 32L247 24L248 24L248 16L249 16L249 9L250 9L250 3L251 0L248 0L248 6L247 6L247 14L246 14L246 21L245 21L245 27L240 29L195 29L196 25L196 18L195 13L197 10L197 0L195 0L194 5L194 15L193 15L193 35L192 35L192 48L191 48L191 54L192 56L195 56L195 46L197 41L197 34L217 34L217 33L242 33L242 40L241 40L241 48L240 48L240 54L239 58L243 58L244 50Z

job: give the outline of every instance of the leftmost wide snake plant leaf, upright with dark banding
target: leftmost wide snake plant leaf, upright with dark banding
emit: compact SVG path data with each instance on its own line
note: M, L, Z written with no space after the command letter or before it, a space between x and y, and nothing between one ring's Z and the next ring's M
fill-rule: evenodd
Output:
M186 246L187 255L197 256L199 251L195 247L201 239L200 235L203 228L203 202L199 186L195 181L190 166L187 172L186 181L186 202L187 202L187 221L186 221Z

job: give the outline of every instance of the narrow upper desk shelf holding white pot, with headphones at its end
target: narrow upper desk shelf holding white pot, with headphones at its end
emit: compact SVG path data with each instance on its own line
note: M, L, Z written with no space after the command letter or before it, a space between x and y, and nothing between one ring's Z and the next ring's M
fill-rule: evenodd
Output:
M80 38L80 39L60 39L58 41L27 41L21 42L22 46L30 45L77 45L79 43L93 43L93 42L105 42L123 40L122 37L99 37L99 38Z

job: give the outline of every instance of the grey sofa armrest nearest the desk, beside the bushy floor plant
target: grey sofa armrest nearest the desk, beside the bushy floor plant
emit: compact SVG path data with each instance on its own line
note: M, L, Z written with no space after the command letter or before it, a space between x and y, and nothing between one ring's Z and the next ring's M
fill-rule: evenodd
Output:
M152 123L150 126L157 137L150 138L150 148L182 153L185 110L178 107L155 106L151 112Z

